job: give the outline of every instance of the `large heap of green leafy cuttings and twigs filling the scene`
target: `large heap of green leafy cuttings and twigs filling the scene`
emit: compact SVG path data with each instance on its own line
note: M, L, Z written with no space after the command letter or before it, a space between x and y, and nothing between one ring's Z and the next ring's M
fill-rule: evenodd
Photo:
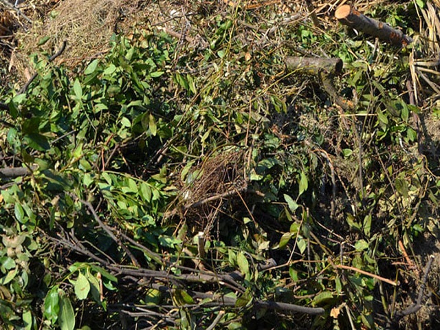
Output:
M415 156L419 109L402 97L409 51L283 28L304 53L342 58L341 94L359 102L341 113L319 81L285 71L289 45L246 41L239 22L258 20L209 17L199 48L156 30L115 36L75 74L34 56L39 77L3 96L3 162L32 170L1 187L5 327L345 329L392 316L388 297L406 292L377 278L398 273L400 240L438 225L423 214L439 180ZM241 160L221 181L209 166L227 155ZM195 190L214 178L226 190ZM324 309L298 319L267 301Z

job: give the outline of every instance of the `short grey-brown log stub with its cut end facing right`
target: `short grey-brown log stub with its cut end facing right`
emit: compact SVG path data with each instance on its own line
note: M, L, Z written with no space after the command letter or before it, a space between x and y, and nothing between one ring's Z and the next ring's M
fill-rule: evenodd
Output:
M289 71L300 74L317 75L324 70L327 74L338 76L342 71L340 58L297 57L287 56L286 67Z

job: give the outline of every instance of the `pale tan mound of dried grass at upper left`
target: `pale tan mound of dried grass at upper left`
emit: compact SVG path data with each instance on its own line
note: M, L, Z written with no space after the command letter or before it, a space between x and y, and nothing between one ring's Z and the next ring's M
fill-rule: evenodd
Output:
M53 54L63 41L67 48L62 60L67 67L74 67L87 58L98 56L108 49L111 35L118 30L124 17L131 17L139 1L124 0L64 0L45 17L34 21L32 30L21 34L19 51L14 65L21 78L26 78L32 67L28 63L31 54L39 50L38 43L45 36L50 39L41 50ZM40 50L39 50L40 51ZM25 77L23 77L25 76Z

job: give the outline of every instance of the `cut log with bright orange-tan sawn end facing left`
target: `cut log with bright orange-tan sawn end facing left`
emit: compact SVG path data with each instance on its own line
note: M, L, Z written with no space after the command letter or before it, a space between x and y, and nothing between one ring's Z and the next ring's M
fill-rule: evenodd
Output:
M340 23L356 29L360 32L375 36L381 41L391 43L398 47L405 47L412 43L412 39L406 36L401 30L392 28L387 23L376 21L366 17L351 5L341 5L335 12L335 17Z

